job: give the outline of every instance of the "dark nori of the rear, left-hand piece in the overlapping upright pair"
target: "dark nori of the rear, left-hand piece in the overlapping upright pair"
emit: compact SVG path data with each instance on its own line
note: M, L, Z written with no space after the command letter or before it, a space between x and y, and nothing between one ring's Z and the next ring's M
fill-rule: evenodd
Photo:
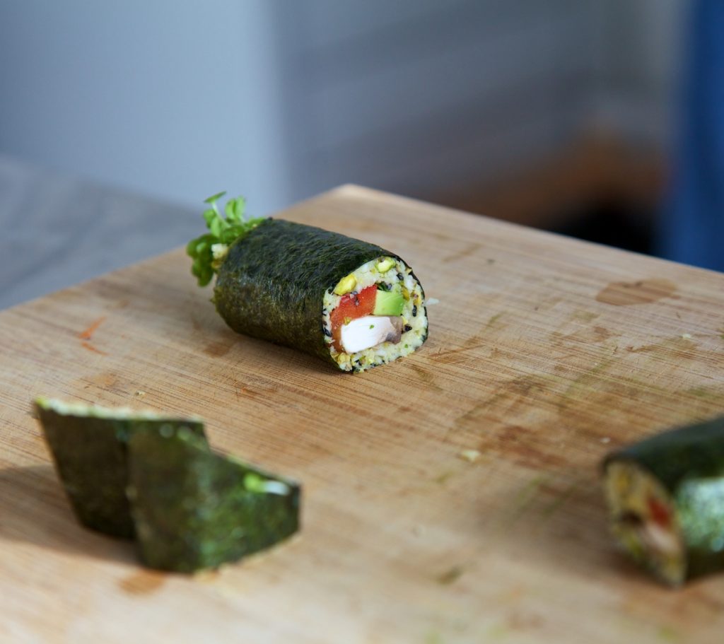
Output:
M43 435L51 449L78 520L92 530L132 538L133 522L126 496L127 441L137 431L175 431L188 428L206 444L203 424L192 420L99 418L59 413L36 403Z

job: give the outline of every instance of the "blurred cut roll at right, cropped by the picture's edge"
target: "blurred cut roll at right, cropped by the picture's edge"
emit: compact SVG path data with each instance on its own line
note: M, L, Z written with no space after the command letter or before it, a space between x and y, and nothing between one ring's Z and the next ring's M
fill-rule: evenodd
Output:
M604 478L615 539L659 580L724 569L724 417L610 454Z

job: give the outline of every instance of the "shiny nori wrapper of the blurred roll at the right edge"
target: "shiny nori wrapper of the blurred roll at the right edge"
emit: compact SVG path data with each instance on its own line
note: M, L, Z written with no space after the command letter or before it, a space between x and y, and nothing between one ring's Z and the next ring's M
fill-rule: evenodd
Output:
M670 493L687 578L724 569L724 417L657 434L610 454L648 470Z

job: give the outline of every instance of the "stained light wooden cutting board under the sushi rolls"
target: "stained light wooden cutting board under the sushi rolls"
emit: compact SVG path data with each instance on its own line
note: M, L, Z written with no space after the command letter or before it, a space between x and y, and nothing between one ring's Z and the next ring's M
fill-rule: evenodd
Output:
M598 467L724 413L724 275L359 187L282 216L400 253L439 300L429 341L337 373L227 329L182 250L0 313L0 641L721 641L724 575L629 564ZM142 569L72 517L38 394L200 415L303 482L300 537Z

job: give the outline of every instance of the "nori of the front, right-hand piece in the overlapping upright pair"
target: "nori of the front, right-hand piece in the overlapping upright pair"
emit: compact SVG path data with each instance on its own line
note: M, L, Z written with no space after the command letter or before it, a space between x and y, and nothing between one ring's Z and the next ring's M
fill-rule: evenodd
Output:
M216 568L299 529L297 483L207 452L189 431L135 433L129 452L128 496L148 567ZM286 493L260 491L264 480L282 483Z

